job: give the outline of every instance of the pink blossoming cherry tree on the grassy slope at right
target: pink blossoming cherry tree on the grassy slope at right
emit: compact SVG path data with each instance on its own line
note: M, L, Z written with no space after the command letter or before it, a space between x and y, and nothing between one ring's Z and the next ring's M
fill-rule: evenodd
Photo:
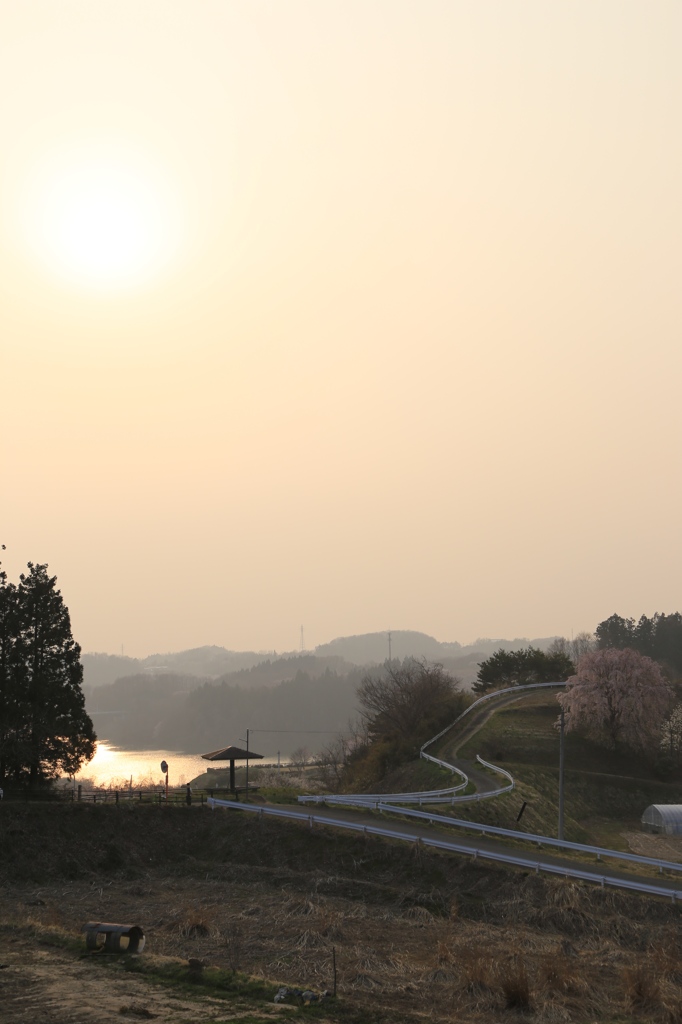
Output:
M566 729L607 746L654 750L673 702L660 668L636 650L606 648L585 654L557 700Z

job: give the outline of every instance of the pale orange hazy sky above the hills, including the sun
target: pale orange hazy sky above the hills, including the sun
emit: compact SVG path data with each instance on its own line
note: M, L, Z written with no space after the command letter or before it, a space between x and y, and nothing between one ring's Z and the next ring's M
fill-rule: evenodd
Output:
M0 0L0 542L86 650L682 609L678 0Z

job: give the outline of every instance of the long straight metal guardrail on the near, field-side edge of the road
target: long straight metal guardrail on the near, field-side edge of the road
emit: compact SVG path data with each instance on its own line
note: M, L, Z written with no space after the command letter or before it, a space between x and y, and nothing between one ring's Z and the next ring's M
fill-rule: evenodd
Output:
M682 899L681 889L670 889L667 886L656 886L650 883L641 882L638 879L621 879L609 874L600 874L598 871L585 870L578 867L568 867L563 864L553 864L549 861L534 859L531 857L516 856L516 854L503 853L502 851L484 850L464 846L461 843L454 843L451 840L441 840L425 836L413 836L410 833L398 831L394 828L384 828L378 825L367 825L357 821L343 821L340 818L327 818L314 814L306 814L303 811L287 811L279 807L254 806L252 804L236 804L226 800L215 800L209 797L208 805L211 809L224 808L233 811L248 811L258 815L272 815L274 817L289 818L290 820L306 821L312 828L314 824L331 825L334 828L346 828L350 831L363 833L366 836L382 836L384 839L396 839L406 843L418 843L422 846L433 847L437 850L447 850L452 853L462 853L474 860L493 860L497 863L513 864L516 867L525 867L537 873L546 871L549 874L560 874L564 878L581 879L585 882L593 882L598 885L613 886L617 889L628 889L631 892L646 893L653 896L667 896L673 902Z

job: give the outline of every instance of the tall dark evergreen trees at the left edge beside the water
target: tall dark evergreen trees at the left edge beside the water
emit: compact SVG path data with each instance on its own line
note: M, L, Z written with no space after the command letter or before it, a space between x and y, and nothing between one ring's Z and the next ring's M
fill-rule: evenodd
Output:
M0 768L32 785L75 773L95 750L81 649L55 585L32 562L17 587L0 580Z

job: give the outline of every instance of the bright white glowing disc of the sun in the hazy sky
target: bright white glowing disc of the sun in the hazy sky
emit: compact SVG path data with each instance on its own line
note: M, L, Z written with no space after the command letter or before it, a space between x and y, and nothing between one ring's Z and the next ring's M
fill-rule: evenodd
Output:
M95 289L134 287L177 247L177 211L162 175L112 154L41 168L27 204L31 245L62 278Z

